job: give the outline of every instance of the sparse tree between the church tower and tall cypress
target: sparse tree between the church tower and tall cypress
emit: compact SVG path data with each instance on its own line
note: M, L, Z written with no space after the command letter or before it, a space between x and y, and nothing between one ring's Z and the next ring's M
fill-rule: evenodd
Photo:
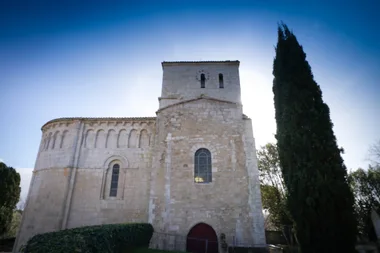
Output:
M291 225L286 209L286 188L280 169L277 146L268 143L257 151L260 171L260 188L263 208L268 210L269 223L275 230L282 231L284 226Z

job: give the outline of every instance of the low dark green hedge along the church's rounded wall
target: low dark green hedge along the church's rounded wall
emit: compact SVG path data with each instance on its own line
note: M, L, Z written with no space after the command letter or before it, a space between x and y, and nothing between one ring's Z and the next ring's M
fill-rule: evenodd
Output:
M26 253L120 253L148 247L153 226L147 223L108 224L66 229L33 236Z

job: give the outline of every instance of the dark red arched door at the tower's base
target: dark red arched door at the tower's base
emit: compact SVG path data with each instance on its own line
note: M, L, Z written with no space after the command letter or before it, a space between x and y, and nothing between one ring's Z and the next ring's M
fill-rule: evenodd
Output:
M192 253L218 253L218 237L214 229L205 223L195 225L187 235L186 251Z

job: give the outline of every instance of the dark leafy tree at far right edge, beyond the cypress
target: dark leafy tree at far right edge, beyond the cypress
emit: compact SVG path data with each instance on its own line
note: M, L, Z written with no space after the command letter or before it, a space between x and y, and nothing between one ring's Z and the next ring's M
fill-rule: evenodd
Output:
M355 196L359 234L376 241L371 212L373 209L380 212L380 166L353 171L348 175L348 181Z

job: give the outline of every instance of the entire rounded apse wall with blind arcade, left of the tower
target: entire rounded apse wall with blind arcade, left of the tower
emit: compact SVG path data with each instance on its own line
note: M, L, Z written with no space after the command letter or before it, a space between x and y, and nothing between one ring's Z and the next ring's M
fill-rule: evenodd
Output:
M147 221L155 118L57 119L42 138L15 249L31 236ZM121 167L109 197L110 165Z

